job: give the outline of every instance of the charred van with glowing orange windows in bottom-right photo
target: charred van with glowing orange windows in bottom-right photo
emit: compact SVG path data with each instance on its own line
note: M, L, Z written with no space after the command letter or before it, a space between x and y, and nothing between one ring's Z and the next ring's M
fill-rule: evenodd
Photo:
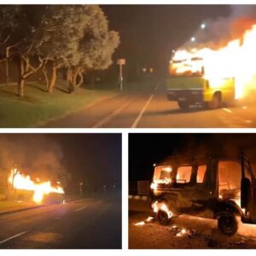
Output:
M237 218L256 224L256 178L248 158L172 158L154 166L151 183L153 204L160 207L160 224L169 224L172 215L187 213L218 220L218 228L233 235Z

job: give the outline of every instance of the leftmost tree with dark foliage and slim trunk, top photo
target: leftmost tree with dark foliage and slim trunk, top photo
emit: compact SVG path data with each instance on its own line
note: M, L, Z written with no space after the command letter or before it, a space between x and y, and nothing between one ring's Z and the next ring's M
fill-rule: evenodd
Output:
M35 9L36 6L26 5L6 5L1 9L3 16L0 17L0 38L5 38L1 44L2 57L17 62L19 96L24 96L26 79L44 66L44 60L39 55L36 66L30 61L31 57L35 57L35 38L43 14L39 10L35 12Z

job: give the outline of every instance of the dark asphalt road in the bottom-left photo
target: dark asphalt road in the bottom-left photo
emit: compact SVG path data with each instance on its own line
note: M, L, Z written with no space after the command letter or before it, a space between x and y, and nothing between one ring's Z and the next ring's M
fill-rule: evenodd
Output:
M121 193L0 215L0 248L121 248Z

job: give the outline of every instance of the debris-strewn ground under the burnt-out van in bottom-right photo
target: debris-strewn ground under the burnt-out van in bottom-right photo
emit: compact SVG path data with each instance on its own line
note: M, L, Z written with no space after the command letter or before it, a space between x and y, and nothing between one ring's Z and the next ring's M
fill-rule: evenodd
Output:
M191 249L191 248L256 248L256 225L241 224L234 236L218 230L217 221L180 215L170 225L163 226L156 219L149 201L129 200L129 248L131 249ZM143 225L137 225L144 222ZM184 234L180 234L185 230Z

